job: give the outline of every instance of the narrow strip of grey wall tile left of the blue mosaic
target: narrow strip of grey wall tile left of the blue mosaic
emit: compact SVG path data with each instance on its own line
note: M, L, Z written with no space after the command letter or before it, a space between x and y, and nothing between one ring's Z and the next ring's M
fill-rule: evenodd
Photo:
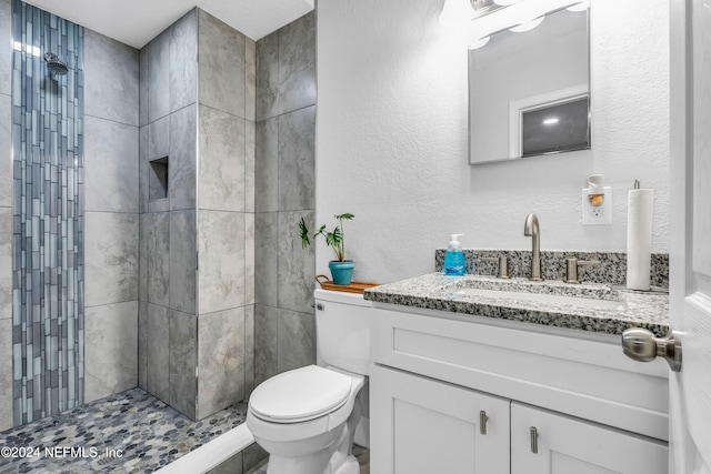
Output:
M0 0L0 38L12 38L12 6ZM12 426L12 50L0 48L0 431Z

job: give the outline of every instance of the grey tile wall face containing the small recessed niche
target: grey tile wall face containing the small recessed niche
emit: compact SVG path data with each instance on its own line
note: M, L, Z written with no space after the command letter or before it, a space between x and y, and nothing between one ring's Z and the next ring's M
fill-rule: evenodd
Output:
M137 192L139 220L139 385L197 414L197 37L193 9L140 51ZM150 161L168 157L159 198ZM164 195L164 194L163 194Z

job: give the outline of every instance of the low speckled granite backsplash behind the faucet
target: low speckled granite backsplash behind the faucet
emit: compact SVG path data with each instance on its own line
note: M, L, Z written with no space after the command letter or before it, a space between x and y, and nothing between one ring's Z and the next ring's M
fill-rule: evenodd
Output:
M531 274L531 252L522 250L470 250L464 249L467 273L475 275L498 275L499 262L481 260L484 256L505 255L509 276L528 278ZM442 271L444 249L434 252L434 270ZM541 252L541 272L544 280L565 278L565 259L597 260L599 266L581 266L579 278L583 282L627 284L627 253L624 252ZM659 289L669 289L669 254L652 253L650 283Z

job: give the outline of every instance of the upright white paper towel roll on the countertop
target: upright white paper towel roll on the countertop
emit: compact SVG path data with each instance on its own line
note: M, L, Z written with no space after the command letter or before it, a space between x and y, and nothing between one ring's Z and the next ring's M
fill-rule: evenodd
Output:
M649 290L654 190L630 190L627 201L627 288Z

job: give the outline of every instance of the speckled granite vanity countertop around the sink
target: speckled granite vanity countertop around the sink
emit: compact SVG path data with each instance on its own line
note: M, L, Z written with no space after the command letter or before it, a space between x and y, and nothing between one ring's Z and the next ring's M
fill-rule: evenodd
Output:
M579 296L619 301L618 309L584 307L548 301L522 301L515 295L499 297L464 294L462 289L525 292L543 295ZM365 300L475 314L581 331L622 334L629 327L643 327L657 336L669 332L669 295L663 291L638 292L602 283L569 284L561 281L531 282L524 279L501 280L492 276L444 276L429 273L369 289ZM542 297L545 300L545 296ZM615 305L612 303L611 305Z

